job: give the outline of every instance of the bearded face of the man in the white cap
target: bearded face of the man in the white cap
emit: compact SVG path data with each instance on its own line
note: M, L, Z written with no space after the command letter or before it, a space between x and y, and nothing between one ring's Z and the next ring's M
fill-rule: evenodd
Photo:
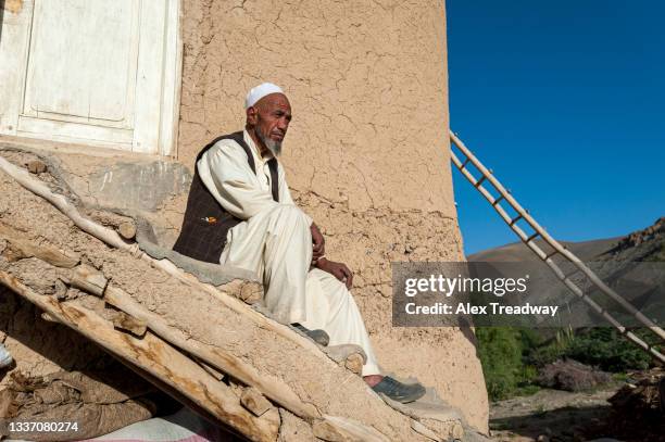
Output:
M248 109L248 123L254 128L256 137L273 152L281 153L281 142L291 122L291 104L283 93L265 96Z

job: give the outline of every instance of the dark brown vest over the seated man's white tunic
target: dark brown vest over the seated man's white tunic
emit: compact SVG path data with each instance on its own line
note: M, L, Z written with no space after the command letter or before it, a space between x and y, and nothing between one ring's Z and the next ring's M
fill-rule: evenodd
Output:
M195 163L195 176L189 189L187 199L187 210L185 211L185 219L183 220L183 229L176 241L173 250L176 252L206 263L219 263L219 256L226 245L226 233L228 230L241 223L242 219L235 217L226 209L222 206L210 193L201 178L199 177L198 163L201 156L219 140L231 139L236 141L244 153L247 153L247 162L252 172L255 174L254 157L249 146L242 139L242 131L230 135L223 135L212 140L199 154ZM225 147L222 147L225 149ZM277 178L277 160L268 161L271 169L273 200L279 201L279 189Z

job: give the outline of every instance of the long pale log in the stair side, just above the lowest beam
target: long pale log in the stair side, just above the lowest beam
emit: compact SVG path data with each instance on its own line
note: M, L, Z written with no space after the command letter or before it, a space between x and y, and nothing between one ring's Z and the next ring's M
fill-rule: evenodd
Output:
M286 383L277 379L265 379L265 377L262 377L254 367L243 363L233 354L224 352L219 348L188 339L180 330L170 327L164 318L143 307L124 290L110 285L104 293L104 301L143 320L150 330L177 348L183 349L206 364L233 376L242 383L255 387L272 401L284 406L294 415L304 419L312 419L321 416L315 406L302 402Z

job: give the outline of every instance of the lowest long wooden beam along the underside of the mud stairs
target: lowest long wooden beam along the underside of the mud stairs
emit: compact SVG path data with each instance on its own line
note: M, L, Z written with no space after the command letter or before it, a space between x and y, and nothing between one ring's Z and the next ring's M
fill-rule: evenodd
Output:
M276 440L279 431L278 419L256 418L244 409L228 387L212 378L195 362L158 336L146 333L143 339L139 340L116 331L108 320L95 312L77 305L59 303L51 296L41 295L2 270L0 270L0 283L117 357L178 390L216 417L221 424L253 441Z

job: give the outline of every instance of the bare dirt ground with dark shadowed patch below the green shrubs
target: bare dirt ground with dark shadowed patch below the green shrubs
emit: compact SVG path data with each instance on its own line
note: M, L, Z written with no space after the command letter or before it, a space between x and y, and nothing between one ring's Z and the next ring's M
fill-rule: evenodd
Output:
M541 390L490 407L495 441L665 442L665 371L630 371L588 392Z

